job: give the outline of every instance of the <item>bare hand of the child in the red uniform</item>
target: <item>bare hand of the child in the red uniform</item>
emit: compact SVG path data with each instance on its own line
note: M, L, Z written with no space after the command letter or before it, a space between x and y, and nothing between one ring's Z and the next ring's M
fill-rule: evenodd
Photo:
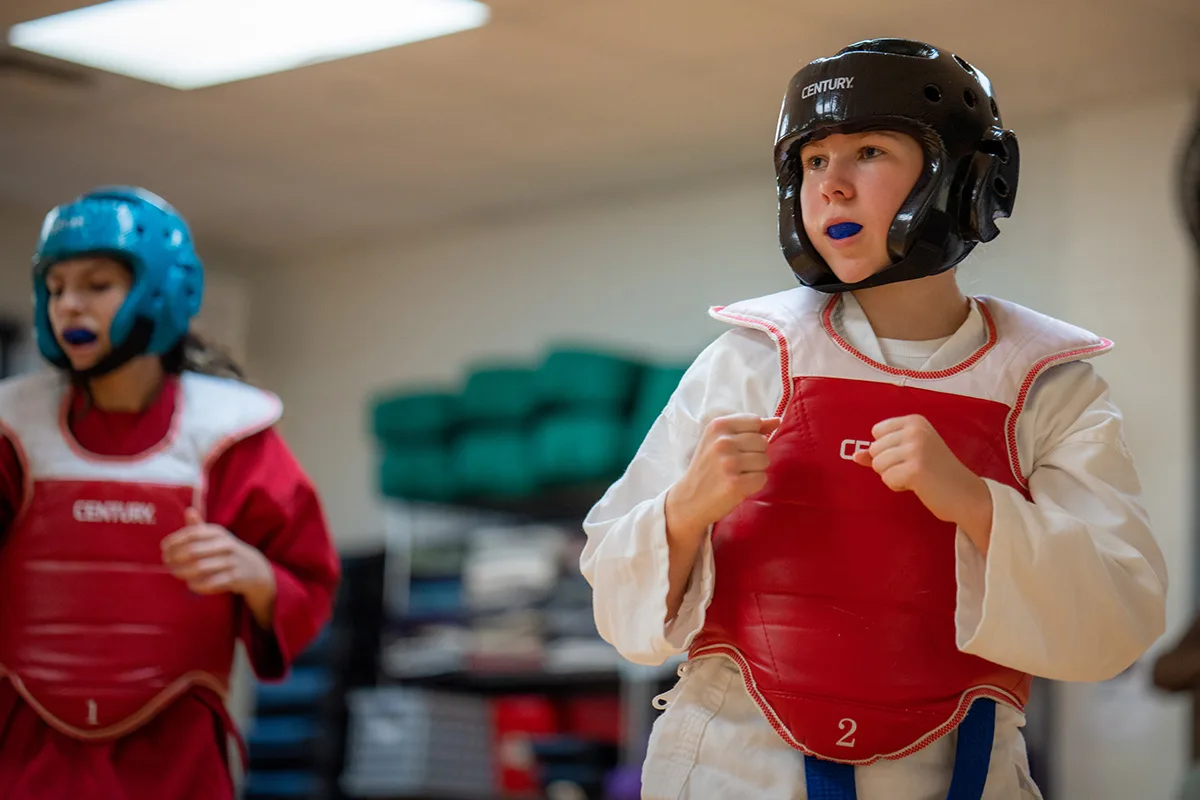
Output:
M275 572L265 555L224 528L205 523L196 509L184 512L184 528L162 540L162 563L188 589L247 599L274 595Z

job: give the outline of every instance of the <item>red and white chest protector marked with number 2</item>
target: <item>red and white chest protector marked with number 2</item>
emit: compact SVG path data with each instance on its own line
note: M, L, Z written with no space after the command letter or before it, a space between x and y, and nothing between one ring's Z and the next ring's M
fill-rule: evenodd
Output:
M902 758L953 730L976 698L1024 708L1031 679L958 649L955 527L888 489L854 451L877 422L919 414L972 471L1024 493L1015 428L1030 386L1111 343L986 300L979 350L911 372L854 351L833 325L836 297L787 313L782 296L714 312L776 339L784 421L767 487L714 527L714 595L690 655L737 662L797 750Z

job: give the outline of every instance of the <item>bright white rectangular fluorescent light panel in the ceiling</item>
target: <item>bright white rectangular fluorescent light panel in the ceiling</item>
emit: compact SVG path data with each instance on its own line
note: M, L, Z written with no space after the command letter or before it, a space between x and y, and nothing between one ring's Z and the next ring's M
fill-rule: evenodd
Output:
M198 89L479 28L476 0L109 0L13 25L24 50Z

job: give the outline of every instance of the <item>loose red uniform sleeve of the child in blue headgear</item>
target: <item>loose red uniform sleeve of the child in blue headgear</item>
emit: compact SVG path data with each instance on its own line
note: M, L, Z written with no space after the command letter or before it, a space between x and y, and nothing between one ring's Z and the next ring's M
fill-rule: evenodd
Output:
M254 673L281 679L329 620L341 563L317 492L274 429L221 455L209 474L208 522L253 545L275 569L270 631L241 609L241 638Z

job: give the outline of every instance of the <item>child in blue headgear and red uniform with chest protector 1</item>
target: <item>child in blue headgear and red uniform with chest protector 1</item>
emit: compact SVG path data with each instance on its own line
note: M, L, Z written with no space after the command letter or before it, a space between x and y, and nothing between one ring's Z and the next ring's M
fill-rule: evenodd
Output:
M232 799L235 642L280 679L329 616L317 494L278 399L188 331L203 294L150 192L46 218L34 324L55 369L0 383L2 798Z

